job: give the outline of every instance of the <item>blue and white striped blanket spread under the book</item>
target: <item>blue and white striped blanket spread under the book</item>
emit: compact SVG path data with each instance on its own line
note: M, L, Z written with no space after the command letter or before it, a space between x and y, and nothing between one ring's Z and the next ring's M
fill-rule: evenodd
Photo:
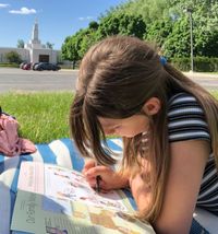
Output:
M110 139L108 140L108 145L114 152L122 154L121 139ZM0 234L11 233L10 222L16 197L19 171L22 161L52 163L77 171L83 168L84 160L80 156L74 143L70 139L55 140L49 144L36 144L36 147L38 151L33 154L16 157L5 157L0 155ZM131 192L126 190L125 195L134 207L135 203ZM197 220L196 222L193 220L191 233L202 233L203 227L199 225L199 221ZM218 230L218 226L214 226L214 229ZM13 232L13 234L15 233L22 234L21 232ZM204 233L208 232L204 229Z

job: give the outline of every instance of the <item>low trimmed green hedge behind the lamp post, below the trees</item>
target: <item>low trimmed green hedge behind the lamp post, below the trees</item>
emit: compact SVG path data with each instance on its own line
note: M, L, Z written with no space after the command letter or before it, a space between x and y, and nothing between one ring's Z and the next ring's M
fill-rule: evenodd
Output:
M181 71L191 70L190 58L172 58L171 63ZM194 57L194 71L197 72L217 72L218 58Z

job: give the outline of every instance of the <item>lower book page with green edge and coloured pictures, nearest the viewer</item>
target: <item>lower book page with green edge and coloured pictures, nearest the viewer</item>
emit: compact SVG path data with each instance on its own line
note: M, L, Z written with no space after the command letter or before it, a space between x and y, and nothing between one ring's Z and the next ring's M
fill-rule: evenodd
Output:
M86 206L20 190L12 230L35 234L153 234L146 225L122 211Z

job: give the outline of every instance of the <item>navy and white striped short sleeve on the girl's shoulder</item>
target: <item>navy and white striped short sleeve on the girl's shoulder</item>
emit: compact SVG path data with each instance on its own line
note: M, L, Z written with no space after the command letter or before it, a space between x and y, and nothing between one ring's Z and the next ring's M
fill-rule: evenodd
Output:
M210 140L204 110L191 94L172 96L168 107L169 141Z

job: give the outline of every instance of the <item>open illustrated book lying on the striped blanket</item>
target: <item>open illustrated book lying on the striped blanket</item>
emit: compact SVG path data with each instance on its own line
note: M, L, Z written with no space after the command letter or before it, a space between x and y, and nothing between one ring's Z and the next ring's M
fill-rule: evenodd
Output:
M122 190L98 194L76 171L23 162L17 188L13 233L155 233L149 224L133 218Z

